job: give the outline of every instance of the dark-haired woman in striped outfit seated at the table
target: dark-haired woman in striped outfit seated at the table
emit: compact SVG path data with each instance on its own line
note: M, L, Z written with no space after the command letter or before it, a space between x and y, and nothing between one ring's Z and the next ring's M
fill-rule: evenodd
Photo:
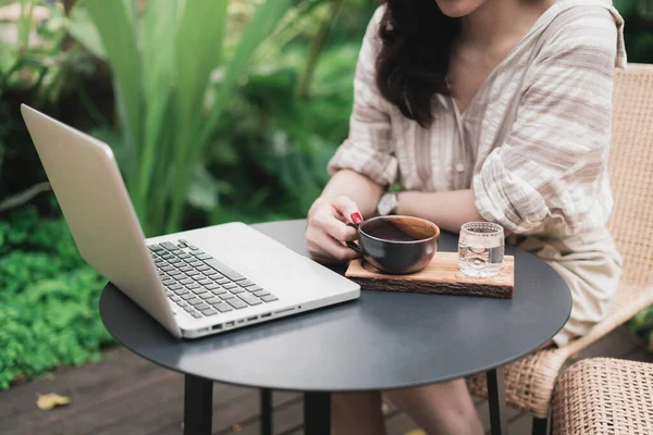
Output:
M605 228L621 28L609 0L384 1L360 50L349 137L308 214L312 257L356 257L346 224L374 214L449 232L495 222L571 289L555 345L587 333L621 270ZM482 433L463 380L385 395L429 434ZM382 434L380 400L334 396L334 433Z

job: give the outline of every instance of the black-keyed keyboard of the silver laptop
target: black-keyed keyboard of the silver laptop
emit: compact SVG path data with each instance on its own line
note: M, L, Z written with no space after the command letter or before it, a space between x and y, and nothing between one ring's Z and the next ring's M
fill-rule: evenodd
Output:
M148 245L168 298L195 319L243 310L278 298L238 272L180 239Z

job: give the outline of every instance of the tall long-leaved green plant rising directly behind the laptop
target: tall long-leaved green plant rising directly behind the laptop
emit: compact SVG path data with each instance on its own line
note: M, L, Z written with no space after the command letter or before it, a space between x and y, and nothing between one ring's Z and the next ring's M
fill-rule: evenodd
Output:
M177 231L202 151L257 48L291 0L266 0L225 60L227 0L87 0L71 33L113 73L123 169L148 235ZM97 29L78 32L85 14ZM88 29L88 27L87 27ZM84 35L84 36L83 36ZM217 92L207 99L218 82Z

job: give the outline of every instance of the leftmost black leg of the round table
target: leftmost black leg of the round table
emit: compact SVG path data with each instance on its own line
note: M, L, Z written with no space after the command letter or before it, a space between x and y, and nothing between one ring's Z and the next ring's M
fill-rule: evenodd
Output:
M184 377L184 435L211 435L213 382L186 374Z

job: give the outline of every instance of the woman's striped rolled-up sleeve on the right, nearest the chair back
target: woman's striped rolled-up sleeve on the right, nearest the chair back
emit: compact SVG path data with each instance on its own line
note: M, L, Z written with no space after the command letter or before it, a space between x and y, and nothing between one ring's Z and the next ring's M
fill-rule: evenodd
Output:
M473 177L485 220L520 234L591 226L607 183L617 40L606 11L564 28L538 54L510 133Z

